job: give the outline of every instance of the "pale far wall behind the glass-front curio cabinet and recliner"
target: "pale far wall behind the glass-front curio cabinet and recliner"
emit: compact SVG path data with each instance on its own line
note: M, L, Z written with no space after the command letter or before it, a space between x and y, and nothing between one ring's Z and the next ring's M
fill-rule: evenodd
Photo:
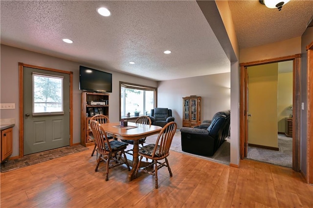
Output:
M212 119L218 111L230 109L230 72L158 82L157 107L172 109L180 128L182 98L190 95L201 96L201 122Z

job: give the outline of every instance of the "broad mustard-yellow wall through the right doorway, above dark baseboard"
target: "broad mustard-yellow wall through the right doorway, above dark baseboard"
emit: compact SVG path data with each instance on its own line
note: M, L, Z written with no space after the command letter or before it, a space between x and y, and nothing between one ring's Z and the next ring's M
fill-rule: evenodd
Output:
M248 67L248 143L278 147L278 63Z

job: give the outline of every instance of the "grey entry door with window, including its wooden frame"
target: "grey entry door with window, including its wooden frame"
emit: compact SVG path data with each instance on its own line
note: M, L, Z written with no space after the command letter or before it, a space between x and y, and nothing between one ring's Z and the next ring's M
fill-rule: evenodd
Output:
M32 70L32 72L30 72L29 70L27 71L27 75L25 75L25 70L26 69L30 69ZM34 72L34 71L39 71L39 72ZM58 112L52 112L51 109L49 109L49 112L40 112L38 113L37 111L35 112L34 106L37 105L36 99L33 99L32 94L34 94L32 92L32 84L33 82L28 82L29 80L34 80L34 78L32 78L32 76L34 74L40 75L42 77L47 77L47 75L44 74L59 74L58 78L60 78L60 74L64 75L64 77L67 77L67 83L69 83L69 86L67 85L67 94L64 94L64 96L67 98L66 100L64 100L65 102L67 102L67 104L65 106L67 106L67 111L63 111L63 107L61 107L60 109L58 109ZM44 73L44 74L43 74ZM28 76L28 80L27 82L24 81L24 76ZM63 76L62 76L63 77ZM63 79L63 78L62 78ZM48 150L48 149L53 149L53 148L57 148L57 147L61 147L64 146L63 145L63 141L64 144L72 146L73 145L73 115L70 111L70 109L72 109L73 106L73 72L69 72L69 71L63 71L63 70L58 70L58 69L51 69L51 68L45 68L45 67L40 67L40 66L34 66L34 65L29 65L29 64L24 64L24 63L19 63L19 128L20 128L20 134L19 134L19 157L23 157L25 154L29 154L27 151L28 149L25 151L25 145L27 146L27 143L24 141L25 139L25 133L27 132L31 132L33 133L34 129L38 129L38 131L36 131L35 135L31 135L29 138L31 139L31 144L35 144L36 148L37 146L39 146L37 149L30 149L29 151L34 151L34 152L38 152L38 151L44 151L44 150ZM29 84L26 85L26 84ZM30 95L28 95L27 93L25 94L25 90L30 90ZM47 87L45 87L45 89L47 89ZM64 91L63 91L64 93ZM51 94L51 93L50 93ZM53 93L52 93L53 94ZM52 96L49 96L52 97ZM28 101L26 102L26 100L28 99ZM30 99L30 100L29 100ZM29 105L29 108L25 108L25 105ZM53 104L57 104L56 102L51 102L50 100L47 100L45 103L47 103L47 105L49 105L49 107L51 108L51 105ZM44 103L44 105L45 105ZM37 108L36 108L37 109ZM43 107L43 109L45 109L45 106ZM29 111L29 112L28 112ZM43 114L43 115L42 115ZM67 114L67 120L66 123L64 123L62 121L62 118L52 118L52 116L59 116L59 115L65 115ZM46 120L43 119L43 116L47 117L49 116L51 120L46 122ZM31 118L31 119L29 119ZM26 120L30 120L31 124L34 125L32 127L26 126L27 122L25 122ZM34 120L37 119L37 120ZM29 122L28 122L29 123ZM63 126L66 125L68 127L68 131L66 134L62 134L63 133ZM45 128L43 128L45 127ZM56 131L52 132L49 134L49 132L47 133L47 131L50 131L51 129L55 129ZM57 132L57 133L55 133ZM46 139L46 135L48 135L48 139L51 139L48 141L48 139ZM51 136L52 135L52 136ZM69 142L68 142L68 140ZM60 142L61 141L61 142ZM50 143L49 143L50 142ZM46 146L40 146L42 144L47 144ZM54 144L57 144L56 146ZM44 149L44 150L43 150Z

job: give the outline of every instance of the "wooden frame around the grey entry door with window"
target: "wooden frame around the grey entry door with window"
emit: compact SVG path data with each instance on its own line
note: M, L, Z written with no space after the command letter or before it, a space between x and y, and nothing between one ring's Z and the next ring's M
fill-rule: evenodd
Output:
M23 69L24 67L42 69L46 71L59 72L64 74L69 74L69 145L73 146L73 72L64 71L59 69L46 68L42 66L35 66L30 64L24 64L19 62L19 122L20 122L20 133L19 133L19 158L24 156L24 112L23 112Z

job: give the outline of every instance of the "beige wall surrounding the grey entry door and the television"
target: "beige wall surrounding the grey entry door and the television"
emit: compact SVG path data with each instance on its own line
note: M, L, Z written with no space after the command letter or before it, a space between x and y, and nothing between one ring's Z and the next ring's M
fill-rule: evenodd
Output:
M0 45L1 71L0 71L0 103L15 103L15 109L0 110L1 119L15 119L13 127L13 153L11 157L19 155L19 62L35 66L60 69L73 72L73 143L80 143L80 102L79 65L85 65L98 70L112 73L112 93L110 93L110 121L119 120L119 81L137 83L156 87L155 81L134 77L104 68L93 67L84 63L34 53L19 48Z

